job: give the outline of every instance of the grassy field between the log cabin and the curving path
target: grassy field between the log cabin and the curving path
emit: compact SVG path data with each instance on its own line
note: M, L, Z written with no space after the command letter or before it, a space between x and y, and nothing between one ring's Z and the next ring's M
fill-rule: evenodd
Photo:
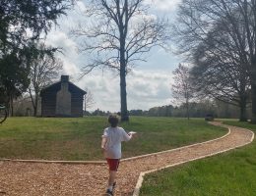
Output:
M0 124L0 158L102 160L101 134L106 118L10 118ZM224 135L225 129L203 120L135 118L121 123L138 137L124 143L123 157L168 150Z

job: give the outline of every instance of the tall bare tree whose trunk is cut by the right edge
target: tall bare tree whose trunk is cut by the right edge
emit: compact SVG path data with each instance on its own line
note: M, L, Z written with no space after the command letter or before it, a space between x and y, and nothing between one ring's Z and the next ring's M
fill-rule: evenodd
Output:
M191 55L204 43L233 61L236 71L246 71L251 85L253 123L256 123L255 21L255 0L183 0L179 8L179 25L175 26L175 38L180 41L183 53ZM226 39L220 41L220 34L217 36L218 31L213 29L226 35Z

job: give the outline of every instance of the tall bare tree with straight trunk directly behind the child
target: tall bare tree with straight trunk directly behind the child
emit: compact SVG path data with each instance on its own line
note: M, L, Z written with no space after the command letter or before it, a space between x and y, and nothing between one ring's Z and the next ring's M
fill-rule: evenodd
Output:
M167 40L167 22L148 14L144 0L88 0L91 25L80 24L72 34L82 52L92 57L84 74L95 68L111 69L120 75L121 121L129 121L126 100L126 74L145 61L144 54Z

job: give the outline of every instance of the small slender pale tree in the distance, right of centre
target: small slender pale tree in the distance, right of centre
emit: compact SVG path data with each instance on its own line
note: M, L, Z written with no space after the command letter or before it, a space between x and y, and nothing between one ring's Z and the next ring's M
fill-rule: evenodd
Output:
M173 72L174 82L171 85L173 98L181 104L185 103L187 119L189 120L189 103L194 98L194 89L191 85L189 76L189 68L179 64L178 68Z

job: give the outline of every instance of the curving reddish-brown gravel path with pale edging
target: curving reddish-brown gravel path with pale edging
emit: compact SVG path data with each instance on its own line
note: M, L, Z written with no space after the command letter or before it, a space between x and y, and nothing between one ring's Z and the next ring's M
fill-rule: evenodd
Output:
M140 172L160 169L249 143L253 133L244 128L223 125L230 134L208 143L175 149L135 160L124 161L118 171L115 195L132 195ZM105 164L69 165L0 162L0 196L100 196L107 181Z

